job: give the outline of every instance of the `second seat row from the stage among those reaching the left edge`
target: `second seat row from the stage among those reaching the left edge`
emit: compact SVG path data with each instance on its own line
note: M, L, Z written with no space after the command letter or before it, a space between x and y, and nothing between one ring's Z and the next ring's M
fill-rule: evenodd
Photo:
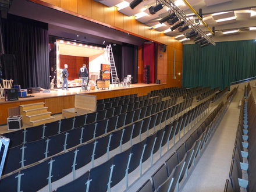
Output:
M31 163L51 157L52 155L58 154L63 150L72 148L81 143L85 143L93 138L102 136L103 134L109 133L115 129L118 129L119 127L129 125L130 123L136 122L137 120L145 117L148 117L145 119L145 122L150 125L148 126L148 129L152 129L155 126L158 126L159 123L164 122L166 119L170 119L170 117L175 116L177 113L188 108L193 102L193 99L190 99L170 107L170 101L172 100L173 98L158 102L157 104L144 106L143 108L139 108L134 111L120 113L120 115L108 117L108 119L83 125L76 129L62 130L61 133L57 133L59 130L58 125L55 127L51 126L51 131L53 132L55 130L56 133L55 135L51 136L45 136L44 126L28 129L33 130L32 133L24 130L22 132L23 137L20 136L20 138L24 139L23 144L9 148L8 150L6 163L3 168L3 175L13 172L16 169L23 168ZM67 119L63 119L63 121L66 120ZM72 120L72 118L70 118L70 120ZM72 125L72 123L70 123L70 125ZM142 129L141 126L142 125L140 124L136 127L138 131ZM144 128L147 129L147 126L144 126ZM134 129L134 127L130 127L130 130L131 129ZM40 138L42 133L44 133L44 137ZM129 137L129 134L125 132L125 136ZM28 139L31 137L38 138L38 140L29 142L30 140Z

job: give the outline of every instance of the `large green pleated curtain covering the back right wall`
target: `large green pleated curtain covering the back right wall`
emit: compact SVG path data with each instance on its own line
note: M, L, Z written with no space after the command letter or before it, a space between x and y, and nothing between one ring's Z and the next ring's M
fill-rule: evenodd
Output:
M183 45L183 87L225 88L256 76L256 40Z

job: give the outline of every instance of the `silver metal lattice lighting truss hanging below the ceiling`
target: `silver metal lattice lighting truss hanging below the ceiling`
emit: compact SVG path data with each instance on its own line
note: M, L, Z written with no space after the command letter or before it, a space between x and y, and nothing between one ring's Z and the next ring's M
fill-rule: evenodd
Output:
M211 37L209 37L204 31L202 31L201 28L197 26L197 24L195 24L192 20L190 20L189 17L187 17L186 14L180 8L178 8L172 0L159 0L159 1L162 2L168 8L170 8L170 10L175 12L176 16L184 20L184 22L187 25L189 25L191 29L197 31L198 35L201 35L202 38L205 38L205 40L207 40L212 45L214 46L216 45L214 40Z

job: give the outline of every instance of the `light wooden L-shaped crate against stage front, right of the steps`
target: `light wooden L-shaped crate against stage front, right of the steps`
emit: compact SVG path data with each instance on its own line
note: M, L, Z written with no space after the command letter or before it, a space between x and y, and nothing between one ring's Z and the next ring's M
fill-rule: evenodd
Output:
M95 95L74 95L74 108L63 109L62 118L71 118L96 111L97 96Z

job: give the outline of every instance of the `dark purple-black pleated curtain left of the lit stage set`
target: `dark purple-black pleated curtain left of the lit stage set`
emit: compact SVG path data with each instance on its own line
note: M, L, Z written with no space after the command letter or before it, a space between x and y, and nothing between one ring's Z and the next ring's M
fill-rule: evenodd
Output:
M5 53L16 59L16 83L22 88L49 88L48 24L14 15L2 22Z

